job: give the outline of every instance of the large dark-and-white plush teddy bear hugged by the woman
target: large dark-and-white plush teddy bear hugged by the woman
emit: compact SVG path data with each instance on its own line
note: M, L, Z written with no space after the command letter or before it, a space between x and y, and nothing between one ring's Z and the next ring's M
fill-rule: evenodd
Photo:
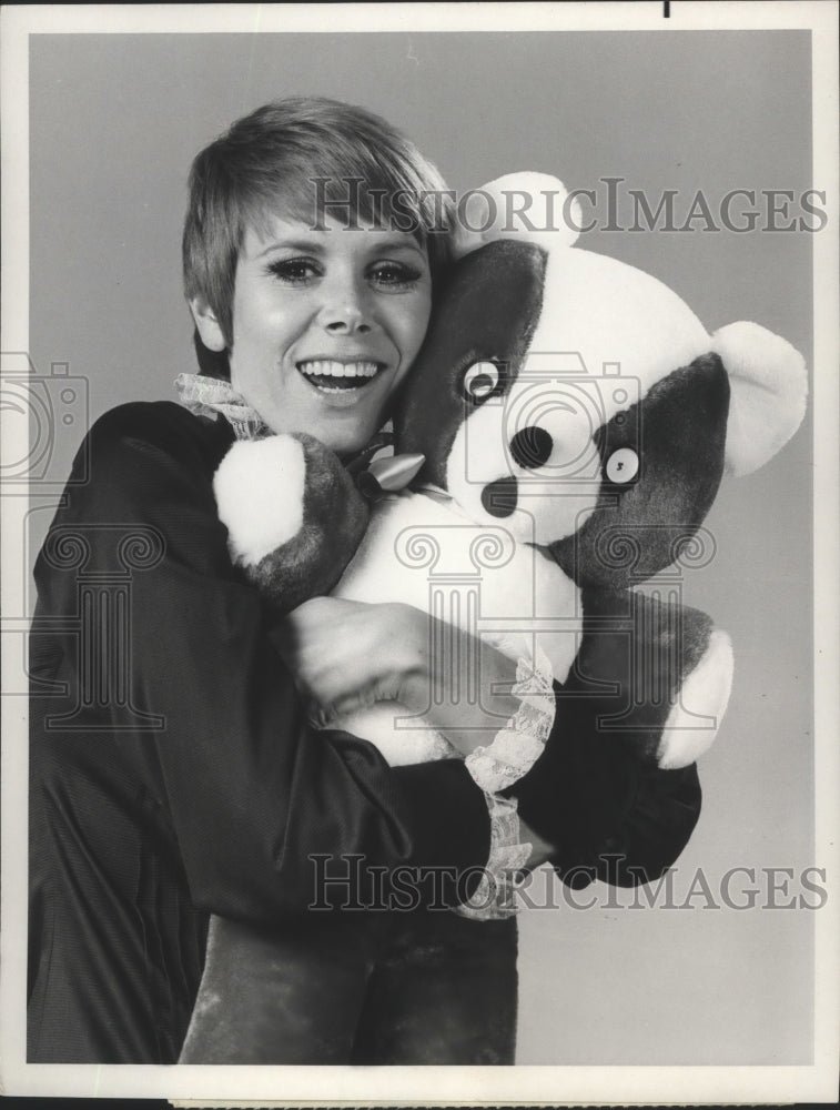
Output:
M709 335L656 279L576 246L567 222L549 219L563 205L575 222L556 179L509 175L474 199L485 209L466 212L397 398L394 456L345 466L311 436L270 435L235 443L214 488L233 561L279 612L326 592L406 602L517 660L522 719L502 722L467 763L492 798L527 779L530 815L556 808L537 761L551 722L605 758L616 740L666 770L714 740L729 638L681 603L679 573L654 576L708 556L702 522L721 480L756 470L795 433L806 373L758 324ZM454 755L393 704L338 724L392 765ZM291 934L213 918L181 1062L283 1062L300 1036L313 1061L505 1062L487 1029L504 1041L515 1028L515 987L480 971L465 983L464 945L509 967L515 934L415 917L389 926L403 955L386 952L393 995L379 985L373 1001L378 941L357 915ZM444 962L424 966L419 986L414 956L437 951ZM404 1027L423 1027L416 1059Z

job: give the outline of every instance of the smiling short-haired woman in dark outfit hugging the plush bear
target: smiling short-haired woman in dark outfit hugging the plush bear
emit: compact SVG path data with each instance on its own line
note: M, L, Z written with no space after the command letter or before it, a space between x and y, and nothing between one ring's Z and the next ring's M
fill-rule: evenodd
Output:
M364 188L351 195L348 182ZM204 376L215 377L186 385L202 415L159 402L102 417L36 568L32 1062L176 1060L209 915L307 929L317 858L362 856L363 902L372 876L445 866L477 877L489 858L494 799L461 761L391 769L364 741L311 730L273 618L231 565L211 485L236 435L305 430L346 457L374 436L446 263L442 189L382 120L322 100L266 105L196 159L186 294ZM393 219L397 194L407 223ZM227 374L230 386L217 381ZM90 481L74 483L85 461ZM300 610L294 630L310 654L330 647L345 693L407 696L418 674L432 680L411 612L322 614ZM496 665L504 678L507 664ZM530 865L550 850L561 874L594 877L604 851L624 851L654 877L699 811L694 769L646 770L574 737L551 736L513 788L525 820L532 806L539 823L546 784L558 813L550 846L517 827L515 803L493 838L533 845ZM443 897L456 904L459 887ZM341 905L346 888L323 894ZM496 924L510 999L514 922L477 928ZM513 1058L512 1015L499 1062ZM312 1062L311 1042L286 1062L296 1051Z

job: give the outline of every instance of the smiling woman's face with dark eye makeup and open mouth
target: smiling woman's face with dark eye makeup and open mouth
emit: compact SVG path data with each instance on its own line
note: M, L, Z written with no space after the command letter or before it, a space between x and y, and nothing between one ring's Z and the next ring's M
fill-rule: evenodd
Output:
M413 235L275 218L249 230L233 296L231 384L274 432L363 447L428 325L432 279Z

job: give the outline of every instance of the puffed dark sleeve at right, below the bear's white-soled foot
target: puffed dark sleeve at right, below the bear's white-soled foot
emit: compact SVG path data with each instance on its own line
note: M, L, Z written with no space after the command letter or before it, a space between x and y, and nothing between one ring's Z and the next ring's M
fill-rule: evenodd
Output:
M581 738L567 724L558 714L543 755L506 793L555 848L551 864L569 886L596 878L617 886L656 880L699 818L696 765L660 770L641 763L620 738Z

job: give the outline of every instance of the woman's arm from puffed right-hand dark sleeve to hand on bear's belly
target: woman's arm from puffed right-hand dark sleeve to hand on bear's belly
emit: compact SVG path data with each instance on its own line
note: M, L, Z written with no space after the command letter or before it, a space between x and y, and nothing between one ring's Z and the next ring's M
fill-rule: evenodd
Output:
M439 622L437 622L439 624ZM455 666L482 650L485 693L509 686L515 664L486 645L470 645L466 633L431 636L433 618L406 605L362 605L316 598L291 615L285 652L304 689L318 700L343 705L378 699L402 702L428 713L433 724L468 756L518 707L497 695L482 705L452 697L447 682ZM429 644L455 644L457 663ZM429 699L429 690L441 695ZM464 688L462 680L461 689ZM559 688L556 697L561 699ZM558 706L560 702L558 700ZM448 729L446 726L456 724ZM642 764L616 734L593 738L575 728L574 715L557 713L543 754L503 791L516 798L520 842L532 844L528 867L546 860L573 886L596 877L621 886L658 878L685 848L700 814L695 766L659 770Z

